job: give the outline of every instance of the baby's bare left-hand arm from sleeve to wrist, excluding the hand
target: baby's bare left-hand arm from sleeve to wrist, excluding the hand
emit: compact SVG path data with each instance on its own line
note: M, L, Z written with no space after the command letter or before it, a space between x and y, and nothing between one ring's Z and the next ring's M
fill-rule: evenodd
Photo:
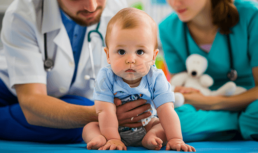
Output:
M108 140L121 140L118 133L118 120L116 118L116 107L114 104L95 100L96 113L100 124L101 134Z

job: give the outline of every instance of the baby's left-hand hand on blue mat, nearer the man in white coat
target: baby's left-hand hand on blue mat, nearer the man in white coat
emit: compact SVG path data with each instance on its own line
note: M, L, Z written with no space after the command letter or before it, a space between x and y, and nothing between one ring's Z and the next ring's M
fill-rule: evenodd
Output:
M125 144L121 140L110 139L98 150L127 150Z

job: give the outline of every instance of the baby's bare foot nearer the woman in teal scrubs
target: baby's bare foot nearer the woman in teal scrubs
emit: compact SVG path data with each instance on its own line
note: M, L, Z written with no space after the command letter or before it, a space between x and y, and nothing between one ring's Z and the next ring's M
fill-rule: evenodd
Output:
M147 137L144 137L142 141L143 146L151 150L160 150L162 143L163 141L154 134L149 134Z

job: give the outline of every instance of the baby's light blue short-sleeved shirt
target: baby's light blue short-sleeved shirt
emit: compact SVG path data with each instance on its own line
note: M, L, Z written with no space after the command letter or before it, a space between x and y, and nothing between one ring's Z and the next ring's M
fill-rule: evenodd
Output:
M97 75L94 87L94 99L114 103L114 97L119 99L135 100L135 96L147 100L147 103L158 108L161 105L174 102L174 92L171 91L171 85L167 81L162 70L151 66L150 71L145 75L139 86L131 88L118 77L108 65L103 67Z

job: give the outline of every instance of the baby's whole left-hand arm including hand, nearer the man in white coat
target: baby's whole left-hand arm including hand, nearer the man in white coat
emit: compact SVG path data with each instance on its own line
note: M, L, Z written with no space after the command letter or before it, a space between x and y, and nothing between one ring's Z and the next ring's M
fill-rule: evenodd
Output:
M115 105L109 102L95 100L95 109L98 115L101 133L107 139L107 143L101 149L126 150L126 146L121 141L118 133Z

